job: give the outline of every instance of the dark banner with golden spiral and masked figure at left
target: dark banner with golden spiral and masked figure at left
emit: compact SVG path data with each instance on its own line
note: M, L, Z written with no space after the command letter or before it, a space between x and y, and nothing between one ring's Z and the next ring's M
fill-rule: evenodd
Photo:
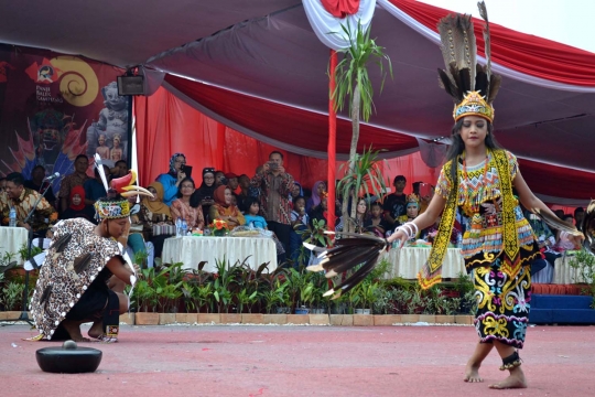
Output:
M80 56L0 44L0 175L35 165L47 175L74 171L78 154L128 162L129 100L123 71ZM53 183L60 191L60 181Z

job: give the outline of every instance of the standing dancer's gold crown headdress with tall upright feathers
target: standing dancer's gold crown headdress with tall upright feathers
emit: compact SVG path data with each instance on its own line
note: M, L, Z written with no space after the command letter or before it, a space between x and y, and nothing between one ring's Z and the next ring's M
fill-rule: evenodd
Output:
M486 4L477 3L486 21L484 41L486 65L477 63L477 46L470 15L448 14L440 20L437 29L442 41L445 69L439 68L439 83L453 97L455 121L465 116L480 116L494 121L494 99L501 77L491 74L489 22Z

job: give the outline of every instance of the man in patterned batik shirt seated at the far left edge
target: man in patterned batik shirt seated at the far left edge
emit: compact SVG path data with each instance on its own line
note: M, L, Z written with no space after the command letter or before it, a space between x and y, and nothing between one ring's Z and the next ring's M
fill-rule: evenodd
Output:
M25 187L24 179L20 172L7 175L6 194L0 195L0 213L2 224L8 225L10 208L17 211L17 226L33 232L34 237L45 237L50 228L57 221L56 210L41 194ZM37 200L39 203L37 203ZM33 207L37 203L35 207ZM24 223L29 213L33 210L31 218Z

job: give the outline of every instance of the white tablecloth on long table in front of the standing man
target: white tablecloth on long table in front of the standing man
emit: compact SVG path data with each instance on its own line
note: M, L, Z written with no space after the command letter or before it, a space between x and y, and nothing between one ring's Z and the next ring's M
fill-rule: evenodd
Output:
M197 269L206 260L205 271L216 271L216 261L225 257L229 265L249 257L246 262L252 269L269 262L269 272L277 269L277 248L272 238L260 237L172 237L165 240L161 258L163 262L183 262L183 269Z

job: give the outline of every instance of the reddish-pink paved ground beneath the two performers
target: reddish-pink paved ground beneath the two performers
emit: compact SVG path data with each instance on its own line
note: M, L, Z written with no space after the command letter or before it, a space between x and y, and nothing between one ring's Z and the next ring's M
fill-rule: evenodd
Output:
M534 326L521 352L528 389L494 351L466 384L470 326L122 326L94 374L43 373L26 325L0 328L0 396L594 396L595 328Z

